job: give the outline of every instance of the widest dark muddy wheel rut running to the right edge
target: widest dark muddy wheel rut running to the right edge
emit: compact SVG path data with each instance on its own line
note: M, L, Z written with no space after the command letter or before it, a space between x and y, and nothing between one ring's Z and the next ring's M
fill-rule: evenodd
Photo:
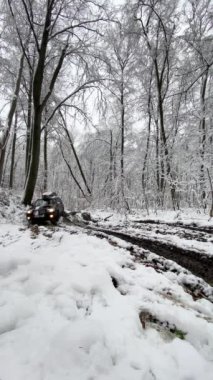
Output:
M208 284L213 285L213 256L202 255L200 252L176 247L175 245L160 240L136 237L123 232L95 228L92 226L85 226L84 228L117 237L128 243L137 245L140 248L154 252L159 256L163 256L166 259L173 260L177 264L188 269L195 276L201 277Z

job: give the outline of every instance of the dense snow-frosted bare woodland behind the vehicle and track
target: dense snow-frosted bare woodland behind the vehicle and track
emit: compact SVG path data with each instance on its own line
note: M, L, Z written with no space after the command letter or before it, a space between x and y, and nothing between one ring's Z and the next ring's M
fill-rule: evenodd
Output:
M0 185L213 216L210 0L4 0Z

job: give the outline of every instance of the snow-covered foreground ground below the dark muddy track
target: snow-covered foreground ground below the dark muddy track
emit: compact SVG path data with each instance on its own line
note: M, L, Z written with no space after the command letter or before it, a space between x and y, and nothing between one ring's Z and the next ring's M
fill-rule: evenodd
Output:
M70 232L0 225L0 379L212 380L213 304Z

